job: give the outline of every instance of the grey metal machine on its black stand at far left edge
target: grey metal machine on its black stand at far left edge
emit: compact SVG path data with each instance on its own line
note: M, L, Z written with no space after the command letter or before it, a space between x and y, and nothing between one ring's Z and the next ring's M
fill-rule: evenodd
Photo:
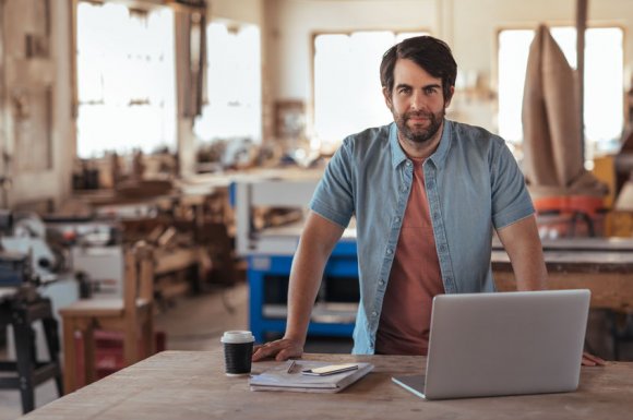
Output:
M38 290L57 279L60 260L36 216L14 219L12 212L1 211L0 231L0 334L7 328L9 344L9 361L0 363L0 388L20 389L23 412L28 412L35 408L37 385L53 379L63 394L53 303Z

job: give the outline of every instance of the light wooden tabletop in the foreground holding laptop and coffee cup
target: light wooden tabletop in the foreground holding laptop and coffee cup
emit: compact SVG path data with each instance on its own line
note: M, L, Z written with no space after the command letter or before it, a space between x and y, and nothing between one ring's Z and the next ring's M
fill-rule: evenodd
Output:
M224 374L222 350L165 351L33 411L27 419L629 419L633 363L582 368L575 393L427 401L392 383L420 373L411 356L306 355L369 361L372 373L339 394L251 392ZM253 364L261 372L277 362Z

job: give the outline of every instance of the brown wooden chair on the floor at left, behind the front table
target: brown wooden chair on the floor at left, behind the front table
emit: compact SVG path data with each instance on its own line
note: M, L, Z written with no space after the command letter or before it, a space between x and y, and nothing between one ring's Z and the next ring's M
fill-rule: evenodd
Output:
M154 260L151 247L136 244L126 251L123 299L84 299L59 313L63 322L64 392L74 392L76 381L75 334L83 336L85 381L95 381L94 331L123 333L126 367L154 353ZM139 346L139 334L142 345ZM143 350L141 353L139 350Z

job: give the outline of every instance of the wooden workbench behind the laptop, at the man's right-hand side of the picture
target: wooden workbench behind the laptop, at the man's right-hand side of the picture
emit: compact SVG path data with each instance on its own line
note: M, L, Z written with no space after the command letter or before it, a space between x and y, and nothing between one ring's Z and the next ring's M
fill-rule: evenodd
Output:
M550 289L590 289L592 308L633 311L633 240L584 238L544 241ZM493 242L492 272L499 290L515 290L512 265Z

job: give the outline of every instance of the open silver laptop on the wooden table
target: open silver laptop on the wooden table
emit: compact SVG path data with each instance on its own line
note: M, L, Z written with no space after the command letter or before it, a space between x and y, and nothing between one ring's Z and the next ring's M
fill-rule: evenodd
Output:
M426 399L578 387L589 290L440 295L426 375L392 380Z

